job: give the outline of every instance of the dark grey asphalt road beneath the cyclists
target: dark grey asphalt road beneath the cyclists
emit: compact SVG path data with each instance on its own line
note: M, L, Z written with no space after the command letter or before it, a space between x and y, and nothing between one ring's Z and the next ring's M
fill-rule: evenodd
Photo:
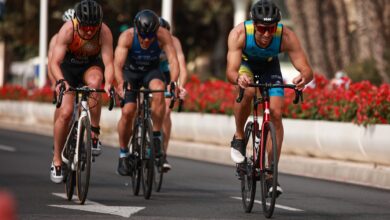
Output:
M51 146L50 137L0 129L0 190L15 197L19 219L265 219L260 204L244 213L232 166L170 158L161 192L133 196L111 147L93 164L88 201L78 205L50 181ZM274 219L390 219L388 190L292 175L279 182Z

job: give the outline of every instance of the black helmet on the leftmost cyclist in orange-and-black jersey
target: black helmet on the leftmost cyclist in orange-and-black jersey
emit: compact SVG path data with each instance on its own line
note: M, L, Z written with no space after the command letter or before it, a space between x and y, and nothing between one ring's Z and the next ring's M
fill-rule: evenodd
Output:
M75 17L84 26L100 25L103 20L102 7L93 0L82 0L75 6Z

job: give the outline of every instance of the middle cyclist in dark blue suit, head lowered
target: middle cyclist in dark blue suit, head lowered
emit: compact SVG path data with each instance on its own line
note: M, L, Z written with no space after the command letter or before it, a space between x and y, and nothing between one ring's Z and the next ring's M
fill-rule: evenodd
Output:
M171 80L177 81L179 65L171 34L165 28L160 28L158 16L151 10L142 10L134 18L134 28L124 31L118 40L115 49L115 78L119 86L124 80L130 87L138 89L141 86L152 90L165 88L164 76L159 69L160 53L164 50L171 68ZM136 113L136 93L127 91L118 92L124 97L125 105L118 123L119 134L119 164L118 173L129 175L129 149L127 147L133 120ZM161 144L161 127L165 114L164 94L155 93L152 99L153 142L155 146Z

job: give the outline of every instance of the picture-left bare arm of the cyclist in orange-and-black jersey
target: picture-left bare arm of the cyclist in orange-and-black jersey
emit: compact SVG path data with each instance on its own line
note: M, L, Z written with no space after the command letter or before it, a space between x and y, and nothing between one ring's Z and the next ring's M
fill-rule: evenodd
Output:
M53 48L51 61L49 63L52 74L56 80L64 78L60 65L65 57L68 44L72 42L72 39L73 24L71 21L68 21L58 32L57 41Z

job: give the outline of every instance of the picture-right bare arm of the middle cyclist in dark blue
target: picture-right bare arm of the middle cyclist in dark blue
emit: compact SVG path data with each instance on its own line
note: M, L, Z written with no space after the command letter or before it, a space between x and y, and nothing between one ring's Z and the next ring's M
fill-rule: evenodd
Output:
M165 51L168 58L171 81L176 82L179 78L179 62L177 61L176 50L173 45L171 34L167 29L159 28L157 37L162 50Z

